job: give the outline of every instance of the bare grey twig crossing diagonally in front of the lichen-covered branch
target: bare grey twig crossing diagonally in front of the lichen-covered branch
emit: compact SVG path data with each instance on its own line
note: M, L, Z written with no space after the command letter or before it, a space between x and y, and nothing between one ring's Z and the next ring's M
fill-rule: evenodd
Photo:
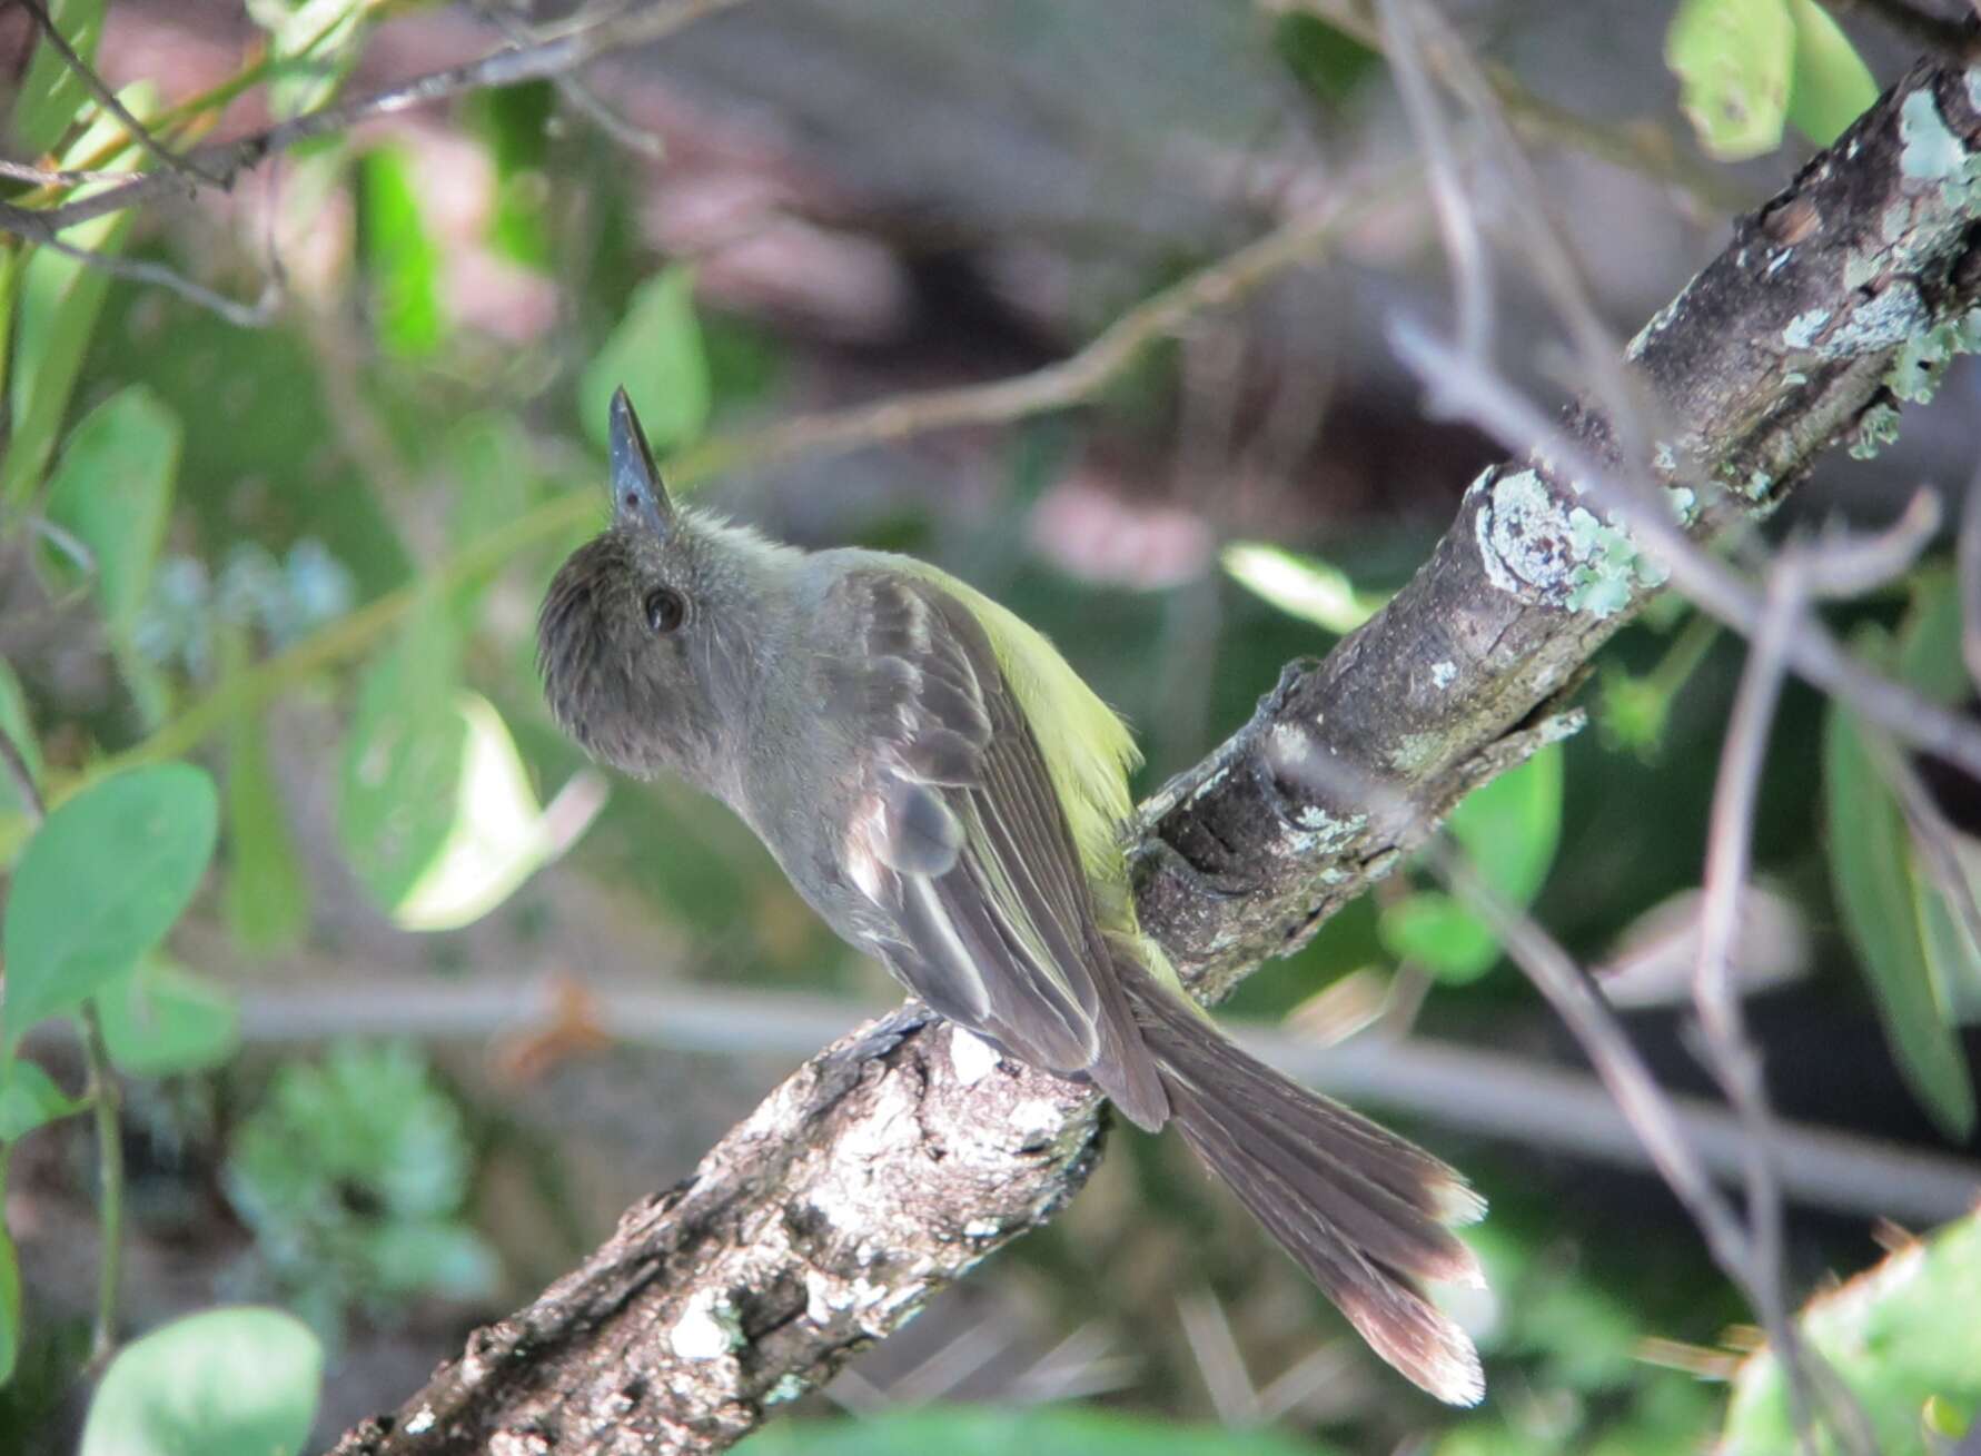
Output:
M1408 321L1391 329L1391 341L1410 370L1424 382L1438 414L1462 416L1515 452L1531 452L1553 469L1573 477L1583 491L1618 519L1630 537L1660 567L1672 586L1700 610L1720 618L1743 636L1761 620L1761 592L1733 569L1698 547L1660 501L1648 491L1624 487L1579 440L1557 428L1519 390L1488 370L1474 368L1464 355L1434 341ZM1811 614L1803 614L1789 634L1789 664L1797 676L1846 701L1858 713L1916 747L1959 763L1981 777L1981 725L1949 713L1939 703L1866 668Z

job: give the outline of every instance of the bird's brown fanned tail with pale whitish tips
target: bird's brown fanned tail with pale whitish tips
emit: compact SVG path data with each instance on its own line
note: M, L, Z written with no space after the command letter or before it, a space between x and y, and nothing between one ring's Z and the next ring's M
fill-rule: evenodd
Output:
M1478 1353L1418 1282L1484 1284L1448 1224L1486 1202L1430 1153L1242 1052L1127 953L1117 963L1191 1151L1377 1355L1440 1401L1478 1404Z

